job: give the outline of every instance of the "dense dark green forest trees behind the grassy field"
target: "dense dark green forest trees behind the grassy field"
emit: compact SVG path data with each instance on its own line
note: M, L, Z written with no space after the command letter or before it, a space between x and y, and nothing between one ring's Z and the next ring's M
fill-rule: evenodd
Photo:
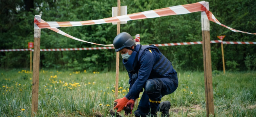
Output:
M199 0L121 0L127 14L192 4ZM208 0L211 11L220 23L244 32L256 32L254 0ZM27 48L34 41L34 16L45 21L86 21L112 17L116 0L0 0L0 50ZM116 25L112 23L59 28L74 37L99 44L112 44ZM164 16L121 24L120 32L134 38L140 34L141 44L202 41L201 12ZM223 41L256 41L256 35L233 32L210 22L211 40L226 35ZM48 29L41 29L41 49L100 47L76 41ZM175 69L203 71L202 44L159 47ZM256 69L255 44L224 44L226 69ZM0 67L29 68L29 51L0 52ZM122 57L120 57L120 62ZM221 44L211 44L212 69L221 71ZM72 71L115 71L116 53L110 50L41 51L40 68ZM120 70L125 68L120 64Z

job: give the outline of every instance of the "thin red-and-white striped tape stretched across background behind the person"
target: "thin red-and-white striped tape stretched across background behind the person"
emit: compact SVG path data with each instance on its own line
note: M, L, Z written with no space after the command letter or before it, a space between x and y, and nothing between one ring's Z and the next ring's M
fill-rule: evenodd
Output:
M221 40L213 40L210 43L221 43ZM256 42L247 41L223 41L223 44L256 44ZM180 45L193 45L202 44L202 41L195 42L182 42L182 43L164 43L164 44L152 44L154 46L180 46ZM149 45L149 44L147 44ZM40 49L40 51L75 51L75 50L105 50L105 49L115 49L113 46L110 47L92 47L92 48L57 48L57 49ZM34 51L33 49L9 49L0 51Z

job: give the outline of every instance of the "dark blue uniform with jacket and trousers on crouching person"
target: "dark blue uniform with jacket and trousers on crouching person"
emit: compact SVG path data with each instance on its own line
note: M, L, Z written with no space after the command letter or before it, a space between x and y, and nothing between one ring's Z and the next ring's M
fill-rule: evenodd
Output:
M156 46L141 46L137 44L131 57L123 59L123 64L129 73L130 89L125 97L136 99L145 89L147 81L154 83L156 89L147 91L141 96L138 106L140 113L148 113L149 107L157 108L161 98L171 94L178 87L177 72L172 63L158 50ZM146 90L146 89L145 89Z

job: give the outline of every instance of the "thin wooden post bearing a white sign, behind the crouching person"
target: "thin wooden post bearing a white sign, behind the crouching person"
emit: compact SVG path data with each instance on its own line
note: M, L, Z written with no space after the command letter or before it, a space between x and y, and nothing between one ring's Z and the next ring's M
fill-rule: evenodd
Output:
M120 16L120 0L117 0L117 16ZM120 22L117 22L117 35L120 34ZM118 97L118 76L119 76L119 52L116 52L116 85L115 85L115 99Z

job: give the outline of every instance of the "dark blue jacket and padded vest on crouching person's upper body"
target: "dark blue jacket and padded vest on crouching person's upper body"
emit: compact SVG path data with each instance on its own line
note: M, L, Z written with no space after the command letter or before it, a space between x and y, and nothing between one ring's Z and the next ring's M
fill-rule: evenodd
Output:
M123 59L123 64L130 78L129 92L125 96L128 99L138 98L148 79L174 78L171 75L175 71L172 63L153 45L137 44L129 59Z

